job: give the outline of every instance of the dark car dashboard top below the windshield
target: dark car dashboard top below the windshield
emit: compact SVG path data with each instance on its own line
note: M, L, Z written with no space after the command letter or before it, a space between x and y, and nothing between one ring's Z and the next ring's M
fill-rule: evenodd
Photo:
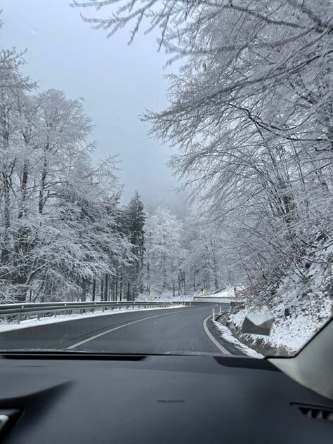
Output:
M4 443L332 442L327 414L306 412L333 403L266 360L8 355L0 384Z

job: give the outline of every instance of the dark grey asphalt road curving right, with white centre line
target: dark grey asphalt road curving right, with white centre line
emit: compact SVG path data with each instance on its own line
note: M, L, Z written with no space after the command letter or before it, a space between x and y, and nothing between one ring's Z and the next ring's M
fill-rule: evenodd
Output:
M228 308L228 303L221 303ZM0 334L0 348L109 353L221 353L204 329L213 303L133 311L18 329Z

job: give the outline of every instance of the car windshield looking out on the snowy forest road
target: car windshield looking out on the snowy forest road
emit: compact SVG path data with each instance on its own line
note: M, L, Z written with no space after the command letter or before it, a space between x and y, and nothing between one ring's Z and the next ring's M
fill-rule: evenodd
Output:
M332 0L0 6L0 350L297 353L332 316Z

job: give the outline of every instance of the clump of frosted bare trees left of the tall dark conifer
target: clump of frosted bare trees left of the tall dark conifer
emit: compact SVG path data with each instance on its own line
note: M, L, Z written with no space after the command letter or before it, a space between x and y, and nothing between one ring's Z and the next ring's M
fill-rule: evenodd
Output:
M0 53L0 300L114 296L132 261L115 157L92 164L91 120L62 91L32 96L22 56ZM110 280L110 285L106 281Z

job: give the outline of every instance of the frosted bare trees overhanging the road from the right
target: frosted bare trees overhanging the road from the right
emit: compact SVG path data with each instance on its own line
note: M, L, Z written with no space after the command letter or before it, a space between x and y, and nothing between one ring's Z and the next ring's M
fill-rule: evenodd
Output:
M155 32L168 63L181 66L169 75L169 107L143 119L174 145L170 166L217 237L205 244L219 246L226 282L243 283L248 306L325 318L333 296L332 0L72 6L107 37L127 27L131 43ZM201 246L200 236L192 242ZM194 254L202 259L200 247Z

